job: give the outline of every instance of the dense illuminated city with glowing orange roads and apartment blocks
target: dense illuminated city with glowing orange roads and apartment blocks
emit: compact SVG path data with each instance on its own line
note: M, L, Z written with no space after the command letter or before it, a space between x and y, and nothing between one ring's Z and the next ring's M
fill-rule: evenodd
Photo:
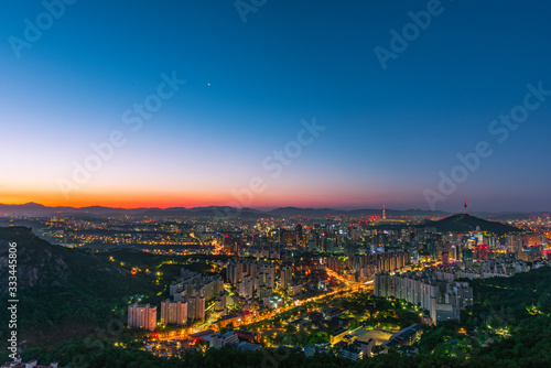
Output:
M440 217L393 218L385 208L357 217L293 212L255 218L6 214L0 223L149 280L123 295L123 304L108 303L125 328L112 344L164 359L224 347L352 361L389 351L414 356L423 332L450 323L465 340L447 343L485 346L510 332L488 317L467 326L480 302L471 283L551 266L544 214L488 221L466 206Z

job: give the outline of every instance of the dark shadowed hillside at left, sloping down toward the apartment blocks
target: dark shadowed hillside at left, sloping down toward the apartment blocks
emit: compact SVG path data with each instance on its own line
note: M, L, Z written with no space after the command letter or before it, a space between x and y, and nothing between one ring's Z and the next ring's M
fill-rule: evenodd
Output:
M84 336L109 316L123 316L125 295L151 289L145 277L94 253L51 245L26 227L0 228L1 280L9 277L10 242L18 249L18 334L30 345ZM7 293L8 282L2 282L0 295ZM0 311L1 321L8 321L7 313ZM0 338L7 333L2 324Z

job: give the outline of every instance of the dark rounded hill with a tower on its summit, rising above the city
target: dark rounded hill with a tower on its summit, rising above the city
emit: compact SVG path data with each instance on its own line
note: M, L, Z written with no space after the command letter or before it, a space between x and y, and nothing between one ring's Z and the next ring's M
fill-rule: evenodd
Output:
M521 232L522 230L501 223L488 221L467 214L456 214L439 221L426 223L428 227L435 227L439 232L469 232L476 230L503 236L509 232Z

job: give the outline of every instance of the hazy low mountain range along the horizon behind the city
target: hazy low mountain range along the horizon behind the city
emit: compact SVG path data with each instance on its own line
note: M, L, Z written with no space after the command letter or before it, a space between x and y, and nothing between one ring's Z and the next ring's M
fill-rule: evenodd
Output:
M423 210L423 209L387 209L387 217L446 217L450 213L441 210ZM106 217L117 215L139 215L148 217L165 217L165 216L187 216L187 217L241 217L241 218L259 218L259 217L325 217L327 215L336 216L344 215L350 217L359 216L381 216L382 208L363 208L363 209L336 209L336 208L299 208L299 207L280 207L272 210L259 210L253 208L235 208L228 206L207 206L207 207L169 207L169 208L116 208L102 206L89 207L67 207L55 206L47 207L37 203L26 203L23 205L4 205L0 204L0 216L30 216L43 217L53 215L69 215L69 216L93 216ZM479 217L508 220L512 218L528 218L529 216L543 216L543 213L516 214L516 213L477 213Z

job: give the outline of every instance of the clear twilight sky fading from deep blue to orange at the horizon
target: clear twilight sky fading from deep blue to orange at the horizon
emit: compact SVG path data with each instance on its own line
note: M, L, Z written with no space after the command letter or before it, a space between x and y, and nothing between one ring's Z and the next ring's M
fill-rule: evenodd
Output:
M65 1L0 4L0 203L551 209L549 2Z

